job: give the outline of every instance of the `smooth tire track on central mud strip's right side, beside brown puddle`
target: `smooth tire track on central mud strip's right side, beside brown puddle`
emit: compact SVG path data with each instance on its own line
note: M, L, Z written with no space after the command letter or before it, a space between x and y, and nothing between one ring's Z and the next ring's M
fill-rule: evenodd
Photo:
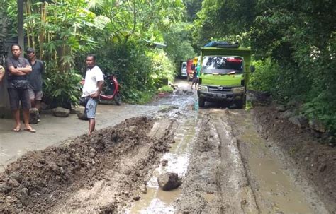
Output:
M224 213L259 213L253 190L246 174L245 165L233 136L227 115L228 109L214 113L215 128L220 138L220 173L218 186L221 186L222 201L228 204Z

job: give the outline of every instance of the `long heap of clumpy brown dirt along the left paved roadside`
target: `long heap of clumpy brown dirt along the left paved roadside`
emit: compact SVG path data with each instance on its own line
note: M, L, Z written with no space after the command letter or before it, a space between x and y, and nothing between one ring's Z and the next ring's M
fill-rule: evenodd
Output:
M128 119L92 136L23 155L0 174L0 213L49 213L78 189L92 189L99 181L110 182L119 192L95 212L118 211L146 184L172 141L169 130L164 138L148 136L153 124L147 117Z

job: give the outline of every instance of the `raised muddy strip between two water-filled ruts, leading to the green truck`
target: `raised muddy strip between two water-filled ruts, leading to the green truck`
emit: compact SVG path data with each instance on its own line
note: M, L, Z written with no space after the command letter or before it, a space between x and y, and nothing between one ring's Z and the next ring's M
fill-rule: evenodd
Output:
M177 213L258 213L223 110L201 111Z

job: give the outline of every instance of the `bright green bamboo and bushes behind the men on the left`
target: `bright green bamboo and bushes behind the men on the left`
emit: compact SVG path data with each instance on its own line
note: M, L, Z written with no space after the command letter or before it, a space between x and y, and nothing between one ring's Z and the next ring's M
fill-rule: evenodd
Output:
M7 9L15 25L16 1L9 1ZM28 45L47 64L43 90L50 102L77 102L79 81L73 70L85 70L89 53L98 53L104 73L117 74L123 100L146 102L157 90L157 78L173 81L172 58L144 41L163 42L163 32L182 18L181 0L30 0L26 6Z

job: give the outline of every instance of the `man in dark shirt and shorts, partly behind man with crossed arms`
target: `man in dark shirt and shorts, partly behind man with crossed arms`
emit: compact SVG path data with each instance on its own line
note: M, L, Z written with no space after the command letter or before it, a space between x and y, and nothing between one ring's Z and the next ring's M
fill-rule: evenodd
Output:
M38 109L40 112L41 105L40 102L43 97L42 93L42 75L45 72L45 66L43 61L36 59L35 49L29 47L26 50L26 54L28 56L29 64L32 68L31 73L28 74L28 92L30 98L31 107ZM40 119L38 119L39 121Z

